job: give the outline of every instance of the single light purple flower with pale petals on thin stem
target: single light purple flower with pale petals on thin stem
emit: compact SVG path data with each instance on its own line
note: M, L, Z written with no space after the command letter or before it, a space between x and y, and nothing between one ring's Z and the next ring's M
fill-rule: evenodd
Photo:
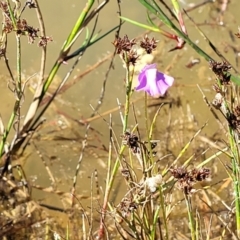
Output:
M153 97L163 96L174 78L157 70L156 64L146 65L138 75L136 91L145 91Z

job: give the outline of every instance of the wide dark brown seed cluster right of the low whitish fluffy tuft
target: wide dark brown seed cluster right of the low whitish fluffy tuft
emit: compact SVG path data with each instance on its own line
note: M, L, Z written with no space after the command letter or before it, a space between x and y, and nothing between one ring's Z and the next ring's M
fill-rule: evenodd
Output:
M200 168L187 171L184 167L170 168L170 172L177 180L179 188L186 194L192 194L195 190L193 185L210 177L210 169Z

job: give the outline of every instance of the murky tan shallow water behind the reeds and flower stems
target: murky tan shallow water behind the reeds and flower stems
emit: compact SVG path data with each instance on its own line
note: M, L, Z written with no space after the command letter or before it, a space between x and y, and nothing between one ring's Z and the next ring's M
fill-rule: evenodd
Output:
M196 4L200 2L201 1L195 1ZM184 4L185 9L192 6L189 5L191 4L191 1L185 1ZM48 36L53 38L53 42L48 45L46 74L58 57L59 49L84 5L84 1L77 0L41 1L40 6L45 19L46 32ZM240 51L240 41L236 37L233 41L231 36L232 33L238 31L238 26L240 25L240 20L237 19L240 2L238 0L231 1L227 11L223 15L223 22L226 24L223 26L216 23L215 18L219 16L219 13L217 13L215 8L216 5L217 3L207 4L190 12L189 15L200 25L202 31L204 31L214 45L224 53L224 56L226 56L232 65L239 69L231 47L236 47L237 50ZM109 28L115 27L118 24L117 11L118 9L115 1L110 1L104 11L100 14L97 29L104 33L109 30ZM27 21L31 23L30 25L37 25L33 10L27 10L24 13L24 16L25 15ZM122 15L146 23L146 13L144 8L140 7L140 4L136 1L123 1ZM219 60L203 37L195 29L193 23L187 18L186 25L191 39L203 47L208 54L213 56L216 60ZM131 24L125 24L121 30L121 36L128 34L129 38L135 38L141 33L143 33L142 29L134 27ZM176 155L206 121L208 121L208 124L203 130L202 137L211 137L214 142L218 137L217 133L219 131L219 126L216 124L215 119L203 101L202 94L197 87L197 84L199 84L210 101L214 98L214 92L211 88L214 83L214 76L209 69L208 63L203 58L200 58L200 64L191 69L186 68L186 64L191 58L199 57L194 50L186 45L182 51L168 52L175 43L166 40L166 38L159 34L152 33L151 35L160 40L154 61L158 63L159 69L167 71L170 75L176 78L175 86L170 89L169 96L170 98L180 97L183 103L182 107L174 106L171 109L166 106L160 113L161 117L159 117L154 136L155 139L160 140L161 146L159 147L159 154L166 154L166 149L168 149L167 152ZM83 39L84 35L80 38L79 43L81 43ZM72 74L72 78L79 75L90 65L95 64L101 58L112 52L114 50L113 45L111 44L113 40L114 33L87 50L77 69ZM26 39L22 39L22 41L23 75L27 77L39 71L41 51L36 47L36 44L29 45ZM14 66L14 37L9 39L9 45L12 47L8 50L8 57L10 63ZM77 48L77 46L75 46L75 48ZM239 53L236 57L237 59L239 58ZM67 65L62 66L58 74L59 79L65 76L66 72L71 67L71 63L72 61ZM7 72L4 72L5 68L3 61L1 61L0 64L2 69L1 74L4 76L1 81L1 88L3 89L2 94L0 95L1 115L4 123L7 124L7 120L11 114L13 98L12 94L7 91L6 82L8 79L5 77ZM92 113L90 104L96 106L108 65L109 61L86 75L76 85L62 94L45 114L47 121L43 125L43 128L34 137L33 141L35 142L37 149L41 152L43 158L50 166L51 172L58 183L58 188L62 191L69 192L72 186L72 178L75 174L75 168L81 153L82 140L85 134L85 127L77 124L75 121L71 120L71 118L86 119L90 117ZM124 103L124 78L122 63L120 60L116 59L114 70L111 71L107 82L104 103L99 110L99 113L104 113L109 109L116 108L117 98L122 104ZM136 96L136 99L138 99L139 96L140 94ZM31 98L32 95L28 92L23 105L23 112L26 111ZM186 105L186 103L188 103L188 105ZM186 106L189 106L189 108ZM143 123L141 118L141 116L143 116L143 100L136 103L136 111L140 117L140 129L143 130L144 125L141 126L141 123ZM170 113L171 131L169 130L169 132L166 132L166 126L169 125ZM106 118L106 121L109 121L109 115L104 117ZM102 145L107 146L109 140L109 129L106 121L98 118L97 120L92 121L91 124L95 131L90 131L88 141L89 146L84 153L78 177L78 191L79 194L84 196L90 195L90 177L95 169L98 171L100 185L104 187L107 153L103 150ZM118 111L113 113L113 124L116 135L119 136L119 141L121 141L121 119ZM132 120L131 127L133 126L134 121ZM173 135L170 136L169 144L167 145L165 139L171 132ZM143 136L144 134L145 133L143 132ZM201 147L203 146L199 143L193 145L193 149L196 150L201 149ZM35 184L41 185L42 187L47 187L51 184L46 168L35 148L30 146L22 161L24 162L27 176L29 176ZM116 187L115 190L119 194L117 197L121 197L121 193L124 193L122 191L123 189L124 186L121 186L121 184ZM45 198L45 202L50 205L54 203L54 205L62 206L61 201L57 200L54 194L45 195L42 191L34 191L34 197L36 199Z

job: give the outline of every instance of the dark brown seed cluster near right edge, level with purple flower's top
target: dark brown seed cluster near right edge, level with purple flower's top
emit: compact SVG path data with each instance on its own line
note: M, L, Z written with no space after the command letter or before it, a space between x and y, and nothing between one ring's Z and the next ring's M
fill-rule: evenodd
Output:
M229 70L232 68L227 62L215 62L210 61L209 63L212 71L217 75L221 82L221 85L228 85L230 82Z

